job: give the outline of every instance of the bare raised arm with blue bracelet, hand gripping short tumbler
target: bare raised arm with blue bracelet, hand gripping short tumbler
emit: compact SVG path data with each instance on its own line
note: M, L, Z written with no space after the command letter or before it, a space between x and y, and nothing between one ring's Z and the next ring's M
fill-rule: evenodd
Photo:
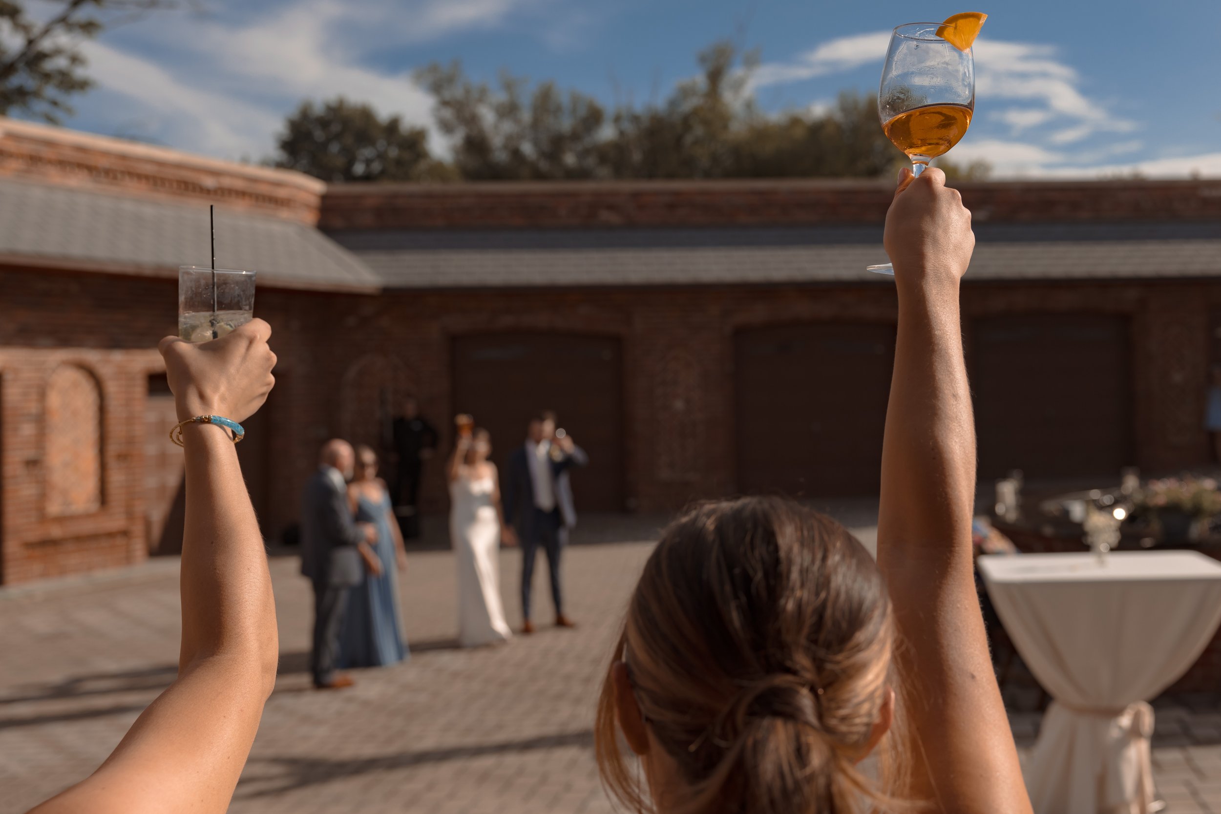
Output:
M161 342L181 420L243 421L271 392L263 320L223 339ZM87 780L39 814L220 814L228 808L276 680L271 576L237 452L219 425L189 423L178 677ZM170 443L166 438L165 443Z

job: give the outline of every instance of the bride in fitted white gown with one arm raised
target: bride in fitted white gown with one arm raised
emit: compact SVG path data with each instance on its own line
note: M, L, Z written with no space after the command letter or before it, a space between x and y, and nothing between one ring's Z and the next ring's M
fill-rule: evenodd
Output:
M458 643L498 644L513 637L501 602L501 535L514 544L504 526L501 483L486 430L459 437L449 460L449 538L458 555Z

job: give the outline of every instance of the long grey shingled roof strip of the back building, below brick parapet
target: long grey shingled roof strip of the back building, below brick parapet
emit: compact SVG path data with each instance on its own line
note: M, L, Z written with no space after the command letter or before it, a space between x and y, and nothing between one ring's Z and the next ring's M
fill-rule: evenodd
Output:
M1221 277L1221 223L995 223L968 279ZM880 227L352 231L386 288L882 282Z

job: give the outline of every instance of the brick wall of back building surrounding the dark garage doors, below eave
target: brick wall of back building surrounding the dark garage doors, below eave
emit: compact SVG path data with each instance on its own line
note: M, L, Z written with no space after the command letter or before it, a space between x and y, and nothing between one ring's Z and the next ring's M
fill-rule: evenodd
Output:
M293 415L277 420L292 427L278 442L284 444L278 455L295 461L300 471L313 466L317 443L339 431L344 395L335 382L365 365L370 354L402 371L425 415L448 433L454 337L513 330L591 332L619 337L623 343L624 493L629 506L641 511L674 509L695 497L734 491L735 331L786 322L895 319L894 292L882 288L298 295L292 303L288 325L303 349L293 351L292 371L281 375L276 394L287 403L277 410ZM1206 315L1217 303L1221 286L1211 283L967 286L965 331L969 344L972 321L1021 311L1129 316L1136 463L1148 471L1175 470L1210 460L1203 430ZM319 344L306 338L304 326L324 325L332 326L341 340ZM674 404L676 387L684 392L680 410L667 406ZM698 443L681 441L691 432ZM449 441L444 437L442 444ZM672 444L676 447L669 449ZM294 505L293 482L293 477L277 480L276 488L284 489L276 500L281 508ZM446 504L435 464L426 470L424 509L442 511ZM291 511L274 519L280 522L288 516Z

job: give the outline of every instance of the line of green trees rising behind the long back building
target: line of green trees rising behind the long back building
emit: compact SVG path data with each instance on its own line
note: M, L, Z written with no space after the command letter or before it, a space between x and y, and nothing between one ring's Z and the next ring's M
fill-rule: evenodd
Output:
M359 165L368 145L380 155L376 145L388 143L376 116L353 105L344 116L303 105L289 120L278 164L344 181L879 177L906 164L882 132L874 96L845 93L829 110L767 115L752 93L756 52L718 43L698 63L700 74L661 103L610 111L551 81L531 84L502 72L488 84L469 78L458 62L435 63L416 79L436 99L437 127L452 156L448 175L429 155L422 131L414 131L418 143L399 148L409 159L398 171L337 170ZM385 124L399 131L398 120ZM297 129L304 134L294 135ZM988 172L983 164L939 165L960 178Z

